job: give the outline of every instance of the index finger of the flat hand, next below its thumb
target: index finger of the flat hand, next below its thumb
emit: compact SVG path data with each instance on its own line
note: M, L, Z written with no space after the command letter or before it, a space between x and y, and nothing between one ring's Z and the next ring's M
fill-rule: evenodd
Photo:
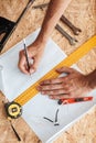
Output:
M44 81L41 81L40 85L61 84L63 81L64 81L64 77L57 77L57 78L46 79Z

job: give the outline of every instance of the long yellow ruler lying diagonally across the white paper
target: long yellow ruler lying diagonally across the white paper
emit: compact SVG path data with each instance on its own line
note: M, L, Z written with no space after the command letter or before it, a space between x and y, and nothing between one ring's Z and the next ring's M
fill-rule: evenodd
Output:
M82 46L79 46L68 57L63 59L58 65L56 65L53 69L51 69L40 80L38 80L30 88L28 88L25 91L23 91L18 98L14 99L14 101L20 103L21 106L25 105L31 98L33 98L39 92L36 90L36 87L39 86L40 81L42 81L44 79L57 77L58 73L55 72L56 68L60 68L63 66L72 66L95 46L96 46L96 35L90 37L86 43L84 43Z

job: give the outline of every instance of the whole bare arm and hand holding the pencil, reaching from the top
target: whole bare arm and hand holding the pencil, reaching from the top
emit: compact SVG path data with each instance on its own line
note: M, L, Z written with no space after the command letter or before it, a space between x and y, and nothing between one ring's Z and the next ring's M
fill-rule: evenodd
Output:
M45 44L70 2L71 0L51 0L40 34L36 40L28 47L29 58L33 59L33 64L30 65L30 70L26 68L24 51L21 51L19 54L18 66L22 73L32 74L36 70L42 58Z

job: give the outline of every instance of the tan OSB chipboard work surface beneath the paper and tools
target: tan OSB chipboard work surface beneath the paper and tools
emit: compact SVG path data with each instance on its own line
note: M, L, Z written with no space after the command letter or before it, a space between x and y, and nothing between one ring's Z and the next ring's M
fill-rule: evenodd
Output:
M36 0L34 6L47 2L49 0ZM15 21L21 11L25 7L28 0L0 0L0 15ZM32 33L41 26L46 9L33 10L29 9L26 14L19 23L17 30L7 43L3 52L17 44L23 37ZM72 0L71 4L64 12L76 26L82 29L82 33L75 36L70 29L63 23L58 22L62 28L67 31L73 37L78 40L75 46L71 46L65 37L63 37L56 30L53 31L52 38L58 46L68 55L83 44L90 36L96 34L96 0ZM96 68L96 48L85 55L78 63L78 67L87 74ZM0 97L2 99L2 96ZM3 103L0 102L0 143L18 143L9 122L4 117ZM96 142L96 109L93 109L88 114L75 123L67 132L62 134L55 143L95 143ZM13 122L17 128L22 143L39 143L40 140L30 130L22 119ZM23 128L24 127L24 128Z

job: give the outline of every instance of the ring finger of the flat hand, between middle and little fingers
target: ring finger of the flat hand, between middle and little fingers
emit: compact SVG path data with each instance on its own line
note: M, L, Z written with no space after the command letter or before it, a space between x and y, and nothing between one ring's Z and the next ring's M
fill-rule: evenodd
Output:
M57 95L65 95L65 94L67 94L67 91L66 90L64 90L64 89L58 89L58 90L43 90L43 91L41 91L41 94L42 95L53 95L53 96L57 96Z

